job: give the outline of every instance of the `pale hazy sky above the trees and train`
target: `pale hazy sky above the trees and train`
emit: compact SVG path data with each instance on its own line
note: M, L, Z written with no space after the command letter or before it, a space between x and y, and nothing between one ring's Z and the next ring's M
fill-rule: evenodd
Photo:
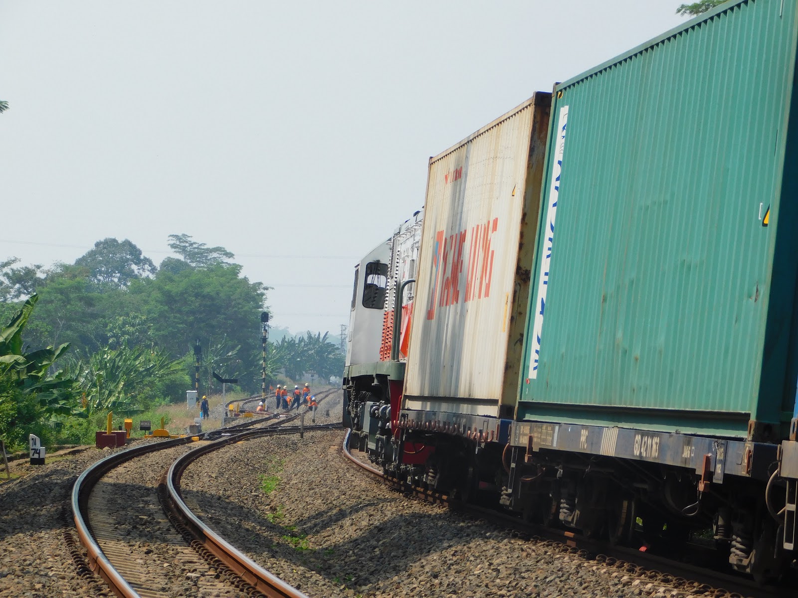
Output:
M0 259L116 237L158 264L187 233L274 287L275 325L337 333L430 155L679 3L0 0Z

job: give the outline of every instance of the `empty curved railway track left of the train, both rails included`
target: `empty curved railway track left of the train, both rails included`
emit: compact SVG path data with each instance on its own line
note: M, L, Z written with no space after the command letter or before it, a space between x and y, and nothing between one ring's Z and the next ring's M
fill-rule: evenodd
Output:
M335 389L321 399L330 397ZM125 598L156 596L305 596L260 568L204 525L180 495L180 475L196 458L231 443L295 434L298 413L257 427L263 419L195 437L147 443L95 463L77 479L72 509L90 568ZM303 426L326 430L340 424Z

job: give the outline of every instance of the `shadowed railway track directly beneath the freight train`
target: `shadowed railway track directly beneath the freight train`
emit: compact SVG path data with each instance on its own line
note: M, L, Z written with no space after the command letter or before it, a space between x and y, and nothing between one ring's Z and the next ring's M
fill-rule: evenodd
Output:
M727 574L688 562L673 559L638 549L610 545L603 541L587 538L579 533L535 525L520 520L508 513L462 502L456 498L440 494L385 475L381 470L361 461L349 450L350 431L346 432L342 443L342 454L355 466L379 479L388 486L406 495L427 502L438 503L451 509L469 513L512 529L519 536L535 544L545 545L559 553L578 555L595 561L599 568L617 571L622 576L633 576L643 588L664 588L665 596L712 596L713 598L787 598L795 596L795 588L757 584L752 579ZM706 551L702 551L706 552ZM686 555L682 555L686 557Z

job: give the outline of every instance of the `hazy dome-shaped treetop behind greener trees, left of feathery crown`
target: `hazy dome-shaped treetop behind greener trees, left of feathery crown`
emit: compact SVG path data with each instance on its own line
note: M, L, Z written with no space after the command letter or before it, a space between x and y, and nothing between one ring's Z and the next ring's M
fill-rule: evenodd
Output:
M104 238L94 243L93 249L75 260L75 266L89 269L92 281L126 287L134 278L156 272L155 264L144 257L141 250L128 239L119 242L115 238Z

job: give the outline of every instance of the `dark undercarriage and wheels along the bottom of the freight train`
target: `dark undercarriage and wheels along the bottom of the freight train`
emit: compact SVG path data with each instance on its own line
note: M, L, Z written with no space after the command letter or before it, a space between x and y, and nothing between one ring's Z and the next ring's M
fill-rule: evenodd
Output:
M387 397L375 382L347 393L345 408L350 447L393 477L663 553L701 530L730 569L757 580L795 565L795 422L777 445L433 411L392 417Z

